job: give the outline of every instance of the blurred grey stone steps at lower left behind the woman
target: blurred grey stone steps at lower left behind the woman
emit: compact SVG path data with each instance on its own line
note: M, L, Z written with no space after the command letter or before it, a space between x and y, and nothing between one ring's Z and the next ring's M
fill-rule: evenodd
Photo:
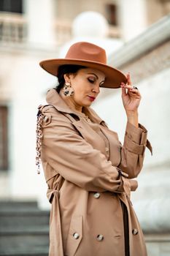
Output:
M49 214L36 202L0 201L0 256L47 256Z

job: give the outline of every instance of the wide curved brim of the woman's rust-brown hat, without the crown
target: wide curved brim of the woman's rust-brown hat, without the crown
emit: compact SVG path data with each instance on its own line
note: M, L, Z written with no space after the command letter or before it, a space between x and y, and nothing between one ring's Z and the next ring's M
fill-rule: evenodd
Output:
M48 59L39 63L39 65L43 69L45 69L51 75L55 76L58 75L58 67L68 64L90 67L104 72L106 79L104 81L104 84L101 86L104 88L119 88L121 82L127 82L126 76L122 72L120 72L120 70L117 70L105 64L101 64L99 62L85 61L81 59Z

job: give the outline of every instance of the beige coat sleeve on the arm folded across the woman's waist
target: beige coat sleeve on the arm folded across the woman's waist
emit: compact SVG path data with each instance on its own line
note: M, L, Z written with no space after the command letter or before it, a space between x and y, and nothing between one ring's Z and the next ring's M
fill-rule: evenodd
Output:
M42 165L88 191L129 192L128 175L94 149L57 110L45 111L42 124Z

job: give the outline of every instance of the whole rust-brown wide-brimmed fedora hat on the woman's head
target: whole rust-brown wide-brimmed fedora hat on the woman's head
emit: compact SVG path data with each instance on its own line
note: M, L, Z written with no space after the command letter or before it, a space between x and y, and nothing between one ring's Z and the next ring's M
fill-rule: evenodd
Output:
M90 42L76 42L66 53L64 59L47 59L39 65L52 75L58 75L58 67L65 64L81 65L104 72L106 80L102 87L118 88L126 83L126 76L119 70L107 65L107 56L103 48Z

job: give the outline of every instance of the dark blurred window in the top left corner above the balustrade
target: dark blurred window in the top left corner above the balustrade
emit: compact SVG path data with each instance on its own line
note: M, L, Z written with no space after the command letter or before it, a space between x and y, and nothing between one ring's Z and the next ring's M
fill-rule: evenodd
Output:
M0 0L0 12L23 13L22 0Z

